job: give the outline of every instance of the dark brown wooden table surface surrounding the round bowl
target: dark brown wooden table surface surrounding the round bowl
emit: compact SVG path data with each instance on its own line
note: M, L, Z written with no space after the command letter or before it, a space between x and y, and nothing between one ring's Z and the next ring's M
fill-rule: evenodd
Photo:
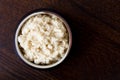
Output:
M46 70L25 64L14 46L22 17L44 8L73 34L69 56ZM0 80L120 80L120 0L0 0Z

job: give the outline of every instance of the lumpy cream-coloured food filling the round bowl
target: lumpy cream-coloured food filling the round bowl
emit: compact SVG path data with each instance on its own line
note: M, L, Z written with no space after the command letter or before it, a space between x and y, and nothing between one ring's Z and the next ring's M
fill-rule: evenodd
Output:
M60 60L68 49L68 32L55 15L39 14L29 18L18 36L24 57L35 64Z

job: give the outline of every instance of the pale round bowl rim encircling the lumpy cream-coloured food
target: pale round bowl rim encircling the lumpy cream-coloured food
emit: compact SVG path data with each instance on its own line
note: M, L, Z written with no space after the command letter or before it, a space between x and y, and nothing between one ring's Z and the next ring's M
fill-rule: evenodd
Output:
M35 16L35 15L38 15L38 14L49 14L49 15L55 15L57 16L65 25L67 31L68 31L68 35L69 35L69 47L65 53L65 55L60 59L58 60L57 62L53 63L53 64L48 64L48 65L40 65L40 64L34 64L30 61L28 61L27 59L25 59L25 57L22 55L22 52L19 48L19 45L18 45L18 35L19 35L19 32L22 28L22 25L32 16ZM55 67L57 66L58 64L62 63L65 58L67 57L67 55L69 54L70 52L70 49L71 49L71 46L72 46L72 32L70 30L70 26L68 25L68 23L66 22L66 20L61 17L59 14L55 13L55 12L52 12L52 11L37 11L37 12L33 12L29 15L27 15L25 18L23 18L21 20L21 22L18 24L18 28L16 30L16 33L15 33L15 48L16 48L16 51L17 51L17 54L19 55L19 57L28 65L32 66L32 67L35 67L35 68L40 68L40 69L47 69L47 68L52 68L52 67Z

